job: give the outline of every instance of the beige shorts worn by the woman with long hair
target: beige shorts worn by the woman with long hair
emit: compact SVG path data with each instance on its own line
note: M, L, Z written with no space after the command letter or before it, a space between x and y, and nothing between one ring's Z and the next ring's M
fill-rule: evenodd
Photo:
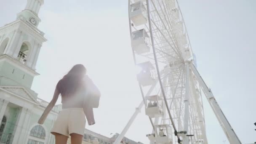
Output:
M85 113L83 108L62 109L57 120L53 124L51 133L59 133L69 137L71 133L84 135L85 131Z

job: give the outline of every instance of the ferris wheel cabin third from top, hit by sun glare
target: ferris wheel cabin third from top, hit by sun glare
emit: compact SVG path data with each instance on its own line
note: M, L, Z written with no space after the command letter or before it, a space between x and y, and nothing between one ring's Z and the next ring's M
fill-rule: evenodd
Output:
M152 85L155 82L155 67L150 61L137 64L141 68L139 74L137 74L137 80L143 86Z

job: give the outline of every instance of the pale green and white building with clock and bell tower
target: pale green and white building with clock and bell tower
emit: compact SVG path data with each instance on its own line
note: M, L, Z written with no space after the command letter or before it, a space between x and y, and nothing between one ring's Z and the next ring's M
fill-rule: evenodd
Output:
M50 134L61 105L43 125L37 121L48 105L31 90L44 33L37 29L44 0L27 0L16 21L0 27L0 144L53 144Z

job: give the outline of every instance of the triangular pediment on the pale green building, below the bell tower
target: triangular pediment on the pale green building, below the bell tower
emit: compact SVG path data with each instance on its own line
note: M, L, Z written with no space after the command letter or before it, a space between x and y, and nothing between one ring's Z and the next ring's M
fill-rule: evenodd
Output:
M13 93L15 95L18 95L18 96L24 98L24 99L34 101L35 103L37 103L37 100L24 87L21 87L21 86L0 86L0 87L10 93Z

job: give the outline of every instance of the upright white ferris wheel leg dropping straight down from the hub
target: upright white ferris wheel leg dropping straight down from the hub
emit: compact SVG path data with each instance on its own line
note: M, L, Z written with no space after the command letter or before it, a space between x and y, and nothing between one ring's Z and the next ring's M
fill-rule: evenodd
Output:
M186 84L185 84L185 98L184 98L184 127L183 131L188 132L189 127L189 63L185 63L185 71L186 71ZM182 138L182 144L188 144L189 143L189 137L187 136L187 133L184 134Z

